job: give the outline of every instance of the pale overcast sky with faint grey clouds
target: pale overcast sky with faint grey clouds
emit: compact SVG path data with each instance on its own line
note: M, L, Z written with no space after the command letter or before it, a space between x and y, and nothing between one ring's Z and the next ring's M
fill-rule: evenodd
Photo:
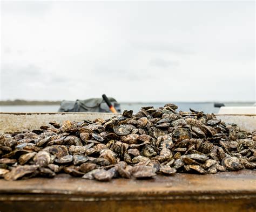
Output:
M0 100L255 101L255 2L1 1Z

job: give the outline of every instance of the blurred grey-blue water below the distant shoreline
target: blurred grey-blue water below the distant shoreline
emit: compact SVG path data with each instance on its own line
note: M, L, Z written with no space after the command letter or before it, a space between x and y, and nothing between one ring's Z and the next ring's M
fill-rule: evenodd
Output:
M133 110L137 112L143 106L163 107L165 103L121 103L122 110ZM213 102L174 102L178 106L178 111L188 111L189 108L204 111L207 113L217 113L219 108L214 108ZM253 102L225 103L226 106L252 106ZM0 112L57 112L59 105L6 105L0 106Z

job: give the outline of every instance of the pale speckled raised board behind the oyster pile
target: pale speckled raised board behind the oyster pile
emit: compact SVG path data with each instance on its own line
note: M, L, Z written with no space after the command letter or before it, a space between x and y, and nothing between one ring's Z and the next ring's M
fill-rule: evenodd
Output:
M24 113L24 112L0 112L0 133L21 132L24 130L39 129L42 125L49 125L50 121L62 123L65 120L93 121L96 118L109 119L120 114L111 113L86 113L86 112L48 112L48 113ZM233 122L249 132L256 130L256 115L216 115L224 122Z

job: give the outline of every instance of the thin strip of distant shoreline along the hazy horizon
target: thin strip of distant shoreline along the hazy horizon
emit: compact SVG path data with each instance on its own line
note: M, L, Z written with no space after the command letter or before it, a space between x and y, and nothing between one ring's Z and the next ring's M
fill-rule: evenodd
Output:
M0 101L0 106L9 106L9 105L60 105L62 101L28 101L28 100L6 100ZM205 102L188 102L188 101L170 101L170 103L214 103L214 102L221 102L221 101L205 101ZM167 102L119 102L120 104L165 104ZM223 103L251 103L252 105L254 102L252 101L244 101L244 102L223 102Z

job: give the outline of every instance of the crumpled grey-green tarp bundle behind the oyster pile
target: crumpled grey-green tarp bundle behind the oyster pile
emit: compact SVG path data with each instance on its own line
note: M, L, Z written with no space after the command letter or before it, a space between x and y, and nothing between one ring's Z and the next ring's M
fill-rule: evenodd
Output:
M121 112L120 104L112 97L109 97L117 112ZM66 101L60 103L58 112L111 112L103 98L89 98L87 100Z

